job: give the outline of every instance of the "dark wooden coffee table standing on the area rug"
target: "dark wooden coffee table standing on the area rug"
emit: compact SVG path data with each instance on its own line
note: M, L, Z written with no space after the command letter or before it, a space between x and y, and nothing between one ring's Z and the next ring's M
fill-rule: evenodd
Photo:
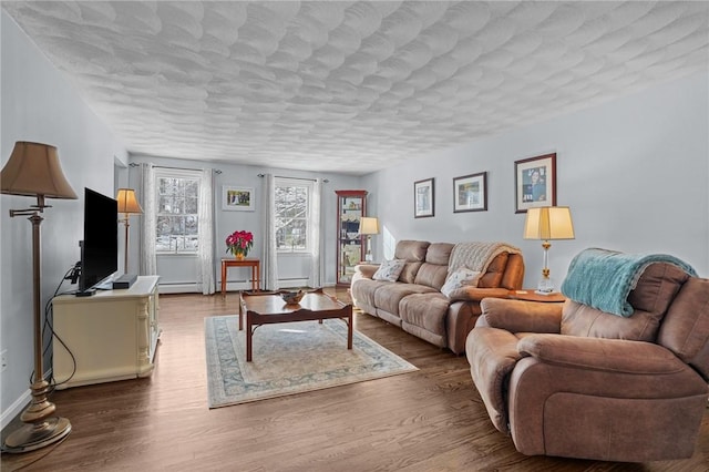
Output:
M347 324L347 349L352 349L352 306L322 293L310 291L298 305L286 305L278 293L242 291L239 300L239 330L244 329L246 314L246 361L251 361L251 338L257 327L277 322L319 321L339 318Z

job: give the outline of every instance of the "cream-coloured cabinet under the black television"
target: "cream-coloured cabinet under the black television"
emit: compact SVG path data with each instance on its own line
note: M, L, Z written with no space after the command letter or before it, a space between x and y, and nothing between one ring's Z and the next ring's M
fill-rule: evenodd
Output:
M142 276L131 288L97 290L90 297L62 295L52 300L54 332L66 345L54 337L53 374L58 389L153 372L161 334L158 279Z

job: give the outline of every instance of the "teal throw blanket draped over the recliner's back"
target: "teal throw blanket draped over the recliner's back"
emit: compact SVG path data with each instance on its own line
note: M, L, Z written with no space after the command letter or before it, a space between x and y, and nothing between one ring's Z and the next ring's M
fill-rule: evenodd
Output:
M579 304L629 317L633 315L633 307L628 302L628 294L635 288L645 268L653 263L672 264L697 277L691 266L674 256L623 254L589 248L578 253L572 260L562 284L562 294Z

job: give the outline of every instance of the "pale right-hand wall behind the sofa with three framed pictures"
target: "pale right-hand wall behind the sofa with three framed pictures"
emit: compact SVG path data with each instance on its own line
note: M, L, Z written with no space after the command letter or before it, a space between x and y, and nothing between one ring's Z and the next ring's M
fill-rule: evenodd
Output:
M370 174L370 214L393 239L506 240L523 249L525 285L542 267L541 242L522 239L514 162L557 154L557 204L569 205L575 240L554 242L561 285L586 247L675 255L709 276L709 75L697 74L604 105ZM453 214L458 176L487 172L487 212ZM413 218L413 183L435 178L435 216ZM374 236L376 257L384 235Z

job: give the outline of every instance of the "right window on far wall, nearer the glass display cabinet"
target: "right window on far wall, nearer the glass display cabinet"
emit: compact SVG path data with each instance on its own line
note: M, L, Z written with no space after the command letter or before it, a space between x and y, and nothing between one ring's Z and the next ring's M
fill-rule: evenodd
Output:
M276 248L282 253L310 252L312 182L276 178Z

